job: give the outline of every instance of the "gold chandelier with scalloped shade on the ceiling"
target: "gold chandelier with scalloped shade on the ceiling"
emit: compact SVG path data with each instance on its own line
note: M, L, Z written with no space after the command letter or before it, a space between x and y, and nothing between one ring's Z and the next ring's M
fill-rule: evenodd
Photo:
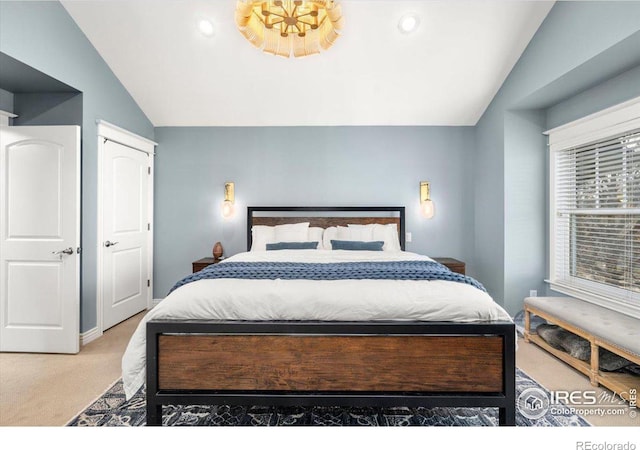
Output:
M331 47L344 19L333 0L238 0L236 24L256 47L288 58Z

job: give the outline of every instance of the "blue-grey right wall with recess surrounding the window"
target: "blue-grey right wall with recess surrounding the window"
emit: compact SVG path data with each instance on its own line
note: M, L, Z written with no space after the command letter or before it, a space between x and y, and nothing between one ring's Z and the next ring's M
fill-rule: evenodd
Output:
M546 290L541 132L637 96L639 43L640 2L556 3L476 126L478 278L511 314Z

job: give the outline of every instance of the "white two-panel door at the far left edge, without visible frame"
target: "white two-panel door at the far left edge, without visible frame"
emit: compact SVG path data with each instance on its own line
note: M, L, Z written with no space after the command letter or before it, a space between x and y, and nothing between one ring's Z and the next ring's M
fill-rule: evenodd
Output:
M0 127L0 351L77 353L80 127Z

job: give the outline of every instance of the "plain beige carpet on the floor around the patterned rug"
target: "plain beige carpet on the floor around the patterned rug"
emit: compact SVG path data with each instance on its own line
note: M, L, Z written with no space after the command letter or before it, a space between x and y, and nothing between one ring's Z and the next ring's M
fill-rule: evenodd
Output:
M122 354L141 318L139 314L107 330L77 355L0 353L0 425L65 425L120 377ZM523 340L518 342L517 365L548 389L604 391ZM640 426L640 418L629 414L586 418L596 426Z

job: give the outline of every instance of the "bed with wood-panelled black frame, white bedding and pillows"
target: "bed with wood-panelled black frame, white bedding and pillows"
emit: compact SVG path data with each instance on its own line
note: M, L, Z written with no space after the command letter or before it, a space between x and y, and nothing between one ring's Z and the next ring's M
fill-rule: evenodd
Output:
M129 342L125 392L146 384L147 425L161 425L162 406L177 404L495 407L499 425L515 425L515 325L477 281L450 271L426 280L345 274L351 266L437 265L405 251L404 207L247 212L247 252L176 283ZM261 251L256 230L301 223L324 237L391 227L398 247ZM291 264L330 276L287 279ZM256 267L283 272L226 275Z

